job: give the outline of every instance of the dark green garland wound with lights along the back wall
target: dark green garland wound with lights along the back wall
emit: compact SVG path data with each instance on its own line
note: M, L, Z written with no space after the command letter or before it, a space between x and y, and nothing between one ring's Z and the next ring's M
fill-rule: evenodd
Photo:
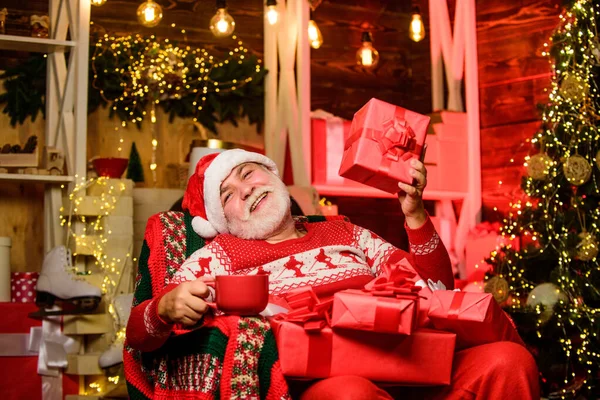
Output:
M234 39L236 39L234 37ZM172 121L191 118L217 133L216 124L247 117L262 128L264 77L259 60L242 42L217 61L204 49L178 47L154 36L110 37L92 40L88 112L110 107L122 125L141 127L151 104L162 107ZM0 75L5 93L3 112L11 125L45 112L46 58L32 55L22 65Z

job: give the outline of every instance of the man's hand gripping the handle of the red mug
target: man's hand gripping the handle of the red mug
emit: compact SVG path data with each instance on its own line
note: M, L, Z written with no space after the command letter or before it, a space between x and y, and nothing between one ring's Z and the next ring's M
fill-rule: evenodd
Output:
M202 279L183 282L158 302L158 315L169 323L195 325L208 310L203 300L210 294Z

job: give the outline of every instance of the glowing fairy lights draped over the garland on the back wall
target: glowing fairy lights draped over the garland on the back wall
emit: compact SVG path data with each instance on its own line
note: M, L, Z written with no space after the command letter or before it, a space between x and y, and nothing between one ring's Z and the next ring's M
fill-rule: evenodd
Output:
M174 27L174 24L172 24ZM184 31L182 30L182 33ZM120 117L120 124L115 126L115 133L119 136L118 151L123 147L123 131L128 124L139 125L149 119L152 124L152 159L150 170L154 182L157 181L159 168L156 153L158 149L158 137L156 127L156 108L161 101L168 99L182 99L193 96L194 121L199 120L200 113L206 106L207 95L210 93L225 94L243 89L253 78L263 72L261 60L257 60L248 75L237 77L228 81L216 81L214 76L222 76L218 69L227 68L230 63L242 63L248 59L248 49L236 36L231 36L235 47L229 51L228 57L218 61L214 56L203 48L192 49L190 47L177 46L168 39L158 41L155 36L142 37L140 35L129 35L115 37L105 34L100 37L94 47L92 54L92 84L98 87L99 74L107 71L99 71L98 66L101 58L112 58L114 60L129 59L130 64L126 67L118 67L115 71L120 79L123 94L114 99L106 98L104 92L100 92L103 99L113 102L112 112ZM115 62L121 66L121 62ZM151 108L147 111L147 105ZM200 118L201 120L201 118Z

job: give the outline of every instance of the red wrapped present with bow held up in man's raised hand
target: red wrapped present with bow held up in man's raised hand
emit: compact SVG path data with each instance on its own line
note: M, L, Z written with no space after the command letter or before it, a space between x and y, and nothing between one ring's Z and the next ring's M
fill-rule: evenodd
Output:
M377 99L354 114L340 175L388 193L412 183L410 160L420 158L430 118Z

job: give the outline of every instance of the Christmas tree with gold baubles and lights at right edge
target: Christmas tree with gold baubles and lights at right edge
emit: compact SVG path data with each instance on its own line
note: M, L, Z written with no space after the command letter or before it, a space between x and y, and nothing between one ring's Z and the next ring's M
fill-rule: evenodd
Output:
M491 254L486 291L515 320L536 357L543 394L600 393L600 42L597 0L570 1L544 56L552 86L531 139L524 198Z

